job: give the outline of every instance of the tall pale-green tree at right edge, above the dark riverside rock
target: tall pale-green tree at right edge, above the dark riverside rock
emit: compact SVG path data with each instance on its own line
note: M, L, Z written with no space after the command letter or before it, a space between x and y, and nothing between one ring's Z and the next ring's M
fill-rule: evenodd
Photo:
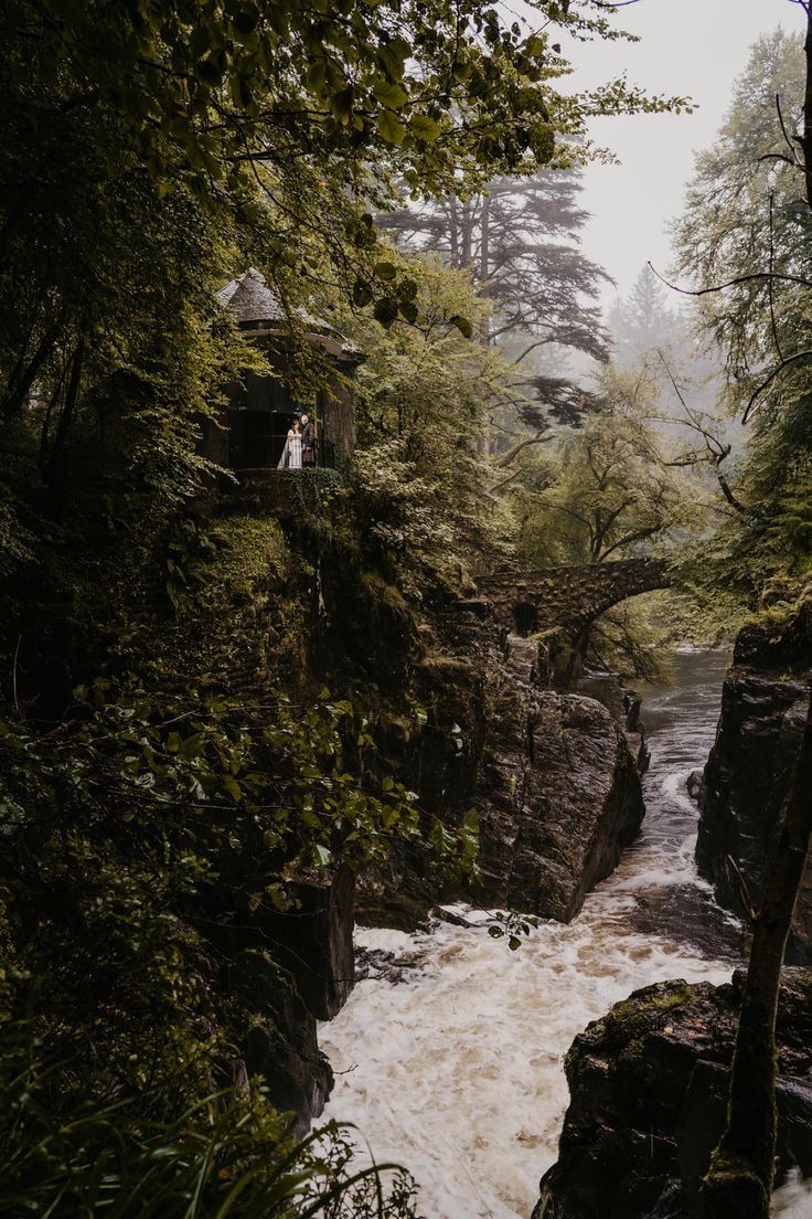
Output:
M704 328L727 364L724 400L750 422L747 452L732 475L735 506L695 552L693 578L709 612L768 605L810 570L807 508L812 433L808 362L783 361L812 346L808 288L810 213L788 134L801 129L803 50L777 30L756 43L716 143L701 155L677 227L684 271L704 297ZM721 601L721 605L719 605ZM739 610L740 612L740 610Z

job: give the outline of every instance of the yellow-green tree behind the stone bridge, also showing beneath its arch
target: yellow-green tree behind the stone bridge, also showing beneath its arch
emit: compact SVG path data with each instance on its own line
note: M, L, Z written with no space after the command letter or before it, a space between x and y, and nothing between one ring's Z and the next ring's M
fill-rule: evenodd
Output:
M505 490L516 523L520 568L603 563L654 552L681 553L702 530L707 494L683 468L663 427L646 368L610 366L600 375L600 410L578 428L548 438L525 456ZM673 606L634 600L604 614L579 641L599 668L649 681L667 677Z

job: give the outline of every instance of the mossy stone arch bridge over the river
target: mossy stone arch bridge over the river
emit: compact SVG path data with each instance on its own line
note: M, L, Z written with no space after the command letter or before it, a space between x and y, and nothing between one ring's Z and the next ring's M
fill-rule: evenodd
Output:
M476 583L497 622L516 634L560 627L575 640L612 606L673 581L661 558L621 558L586 567L498 572Z

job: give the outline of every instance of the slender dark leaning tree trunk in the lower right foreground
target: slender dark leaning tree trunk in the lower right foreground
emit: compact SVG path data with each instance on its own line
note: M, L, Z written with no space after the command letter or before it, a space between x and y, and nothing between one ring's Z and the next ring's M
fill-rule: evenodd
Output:
M705 1178L710 1219L768 1219L775 1157L775 1013L784 950L812 837L812 700L765 898L737 1032L727 1129Z

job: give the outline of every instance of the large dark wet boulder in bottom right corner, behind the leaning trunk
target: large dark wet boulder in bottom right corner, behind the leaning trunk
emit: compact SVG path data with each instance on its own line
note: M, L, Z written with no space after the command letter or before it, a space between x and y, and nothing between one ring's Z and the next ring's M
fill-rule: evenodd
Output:
M743 975L660 983L576 1037L559 1160L533 1219L699 1219L726 1113ZM778 1019L782 1173L812 1174L812 974L785 970Z

